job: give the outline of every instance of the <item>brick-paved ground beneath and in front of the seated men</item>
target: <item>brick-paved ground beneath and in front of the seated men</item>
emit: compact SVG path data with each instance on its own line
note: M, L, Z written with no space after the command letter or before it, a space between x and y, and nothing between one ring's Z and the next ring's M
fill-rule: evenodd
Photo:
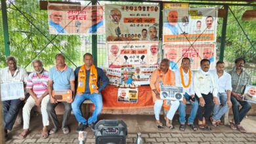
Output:
M163 131L158 131L154 124L154 117L152 115L101 115L100 119L121 119L127 124L128 135L127 143L136 143L137 132L142 133L142 140L144 143L157 144L194 144L194 143L235 143L235 144L255 144L256 143L256 117L247 117L243 120L245 129L249 132L242 134L237 130L231 130L229 126L220 128L213 128L211 132L203 132L198 130L193 132L186 128L184 132L179 131L179 122L173 122L175 129L169 130L165 128ZM61 119L61 117L59 117ZM175 119L178 119L175 117ZM77 122L74 115L70 117L69 126L70 134L62 134L59 130L56 134L49 135L47 139L41 139L41 115L33 117L31 120L31 132L26 139L19 139L18 134L22 131L22 126L16 126L9 134L10 139L6 143L40 143L40 144L58 144L58 143L78 143L77 133L75 129ZM51 126L50 126L51 127ZM95 143L95 136L89 128L87 132L87 139L85 143Z

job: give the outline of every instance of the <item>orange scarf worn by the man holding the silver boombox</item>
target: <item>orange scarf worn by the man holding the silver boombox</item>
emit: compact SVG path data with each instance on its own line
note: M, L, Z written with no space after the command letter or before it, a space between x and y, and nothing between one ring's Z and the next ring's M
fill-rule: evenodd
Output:
M166 79L164 76L166 76ZM171 83L171 70L168 69L167 73L163 75L163 72L160 69L158 69L158 78L159 81L163 82L163 85ZM160 86L158 87L158 92L160 92ZM163 100L163 109L165 109L166 111L170 109L170 105L167 105L167 99Z

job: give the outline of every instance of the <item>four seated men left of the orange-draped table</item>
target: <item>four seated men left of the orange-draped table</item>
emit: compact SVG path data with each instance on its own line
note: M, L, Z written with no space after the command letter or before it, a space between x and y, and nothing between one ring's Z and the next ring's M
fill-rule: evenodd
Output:
M70 129L67 123L72 110L79 122L77 131L83 131L87 126L93 127L95 125L102 110L102 95L100 91L108 85L109 79L102 69L93 64L93 56L91 54L86 53L83 56L85 64L77 67L75 71L66 65L65 57L62 54L56 54L56 65L50 71L43 68L41 60L33 60L32 64L35 71L30 75L27 75L26 71L21 67L17 67L14 57L7 57L6 62L8 67L0 70L1 83L23 82L24 88L30 94L22 109L24 130L20 133L20 138L24 139L30 133L30 111L35 105L41 107L43 119L42 138L47 138L49 134L56 133L60 128L63 134L68 134ZM67 101L57 101L53 96L53 90L71 90L72 97ZM95 104L95 111L88 120L82 116L80 111L80 105L85 99L90 99ZM65 107L62 124L59 124L54 110L58 103L63 103ZM23 104L24 98L3 101L3 124L6 138L8 137L8 132L12 130L18 111ZM47 128L49 126L49 117L53 122L51 130Z

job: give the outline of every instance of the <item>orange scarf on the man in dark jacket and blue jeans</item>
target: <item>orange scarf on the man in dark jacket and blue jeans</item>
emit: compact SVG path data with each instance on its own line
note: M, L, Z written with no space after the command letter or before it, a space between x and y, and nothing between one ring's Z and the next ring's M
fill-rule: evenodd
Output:
M77 92L85 92L85 81L86 81L86 69L85 65L82 65L78 72L78 81L77 81ZM97 86L98 73L95 65L91 65L90 77L89 77L89 88L91 94L93 94L95 89L98 89ZM93 88L92 84L95 85Z

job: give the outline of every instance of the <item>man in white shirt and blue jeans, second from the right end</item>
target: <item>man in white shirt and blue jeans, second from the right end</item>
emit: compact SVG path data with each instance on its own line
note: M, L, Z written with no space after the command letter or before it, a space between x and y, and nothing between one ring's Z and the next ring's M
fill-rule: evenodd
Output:
M231 75L224 71L224 62L217 62L216 70L217 71L214 71L213 73L213 77L218 86L217 98L219 105L214 106L211 124L213 124L213 126L224 126L221 122L221 117L228 112L230 107L232 107L232 103L230 101L230 95L232 92ZM221 104L223 107L220 107Z

